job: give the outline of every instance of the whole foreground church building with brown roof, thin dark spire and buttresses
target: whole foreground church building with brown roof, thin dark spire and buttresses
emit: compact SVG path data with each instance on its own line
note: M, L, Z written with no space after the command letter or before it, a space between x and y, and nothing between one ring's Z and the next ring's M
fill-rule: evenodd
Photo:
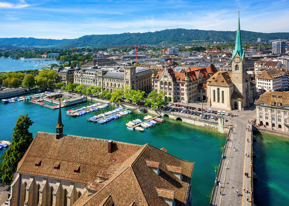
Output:
M194 162L149 144L38 132L18 163L9 206L191 206Z

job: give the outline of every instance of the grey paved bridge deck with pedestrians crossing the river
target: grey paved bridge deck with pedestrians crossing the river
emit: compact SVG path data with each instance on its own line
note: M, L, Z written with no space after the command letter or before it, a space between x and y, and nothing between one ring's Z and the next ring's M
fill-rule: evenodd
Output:
M246 128L251 128L251 125L247 123L247 120L251 120L256 116L254 111L255 105L247 107L247 110L234 118L236 127L233 127L234 133L229 134L231 141L227 142L227 148L224 150L223 161L219 166L219 173L214 188L214 194L212 194L211 205L216 206L249 206L253 205L251 181L253 180L251 169L251 149L252 138L251 132L248 132ZM247 141L249 139L249 142ZM235 146L236 151L233 147ZM246 157L245 153L250 153L250 157ZM226 165L226 166L225 166ZM249 173L249 178L245 177L244 173ZM219 187L221 183L221 189ZM245 187L245 192L243 190ZM247 192L247 188L249 191ZM237 195L237 190L239 195ZM221 194L220 194L221 190ZM247 202L247 196L249 202Z

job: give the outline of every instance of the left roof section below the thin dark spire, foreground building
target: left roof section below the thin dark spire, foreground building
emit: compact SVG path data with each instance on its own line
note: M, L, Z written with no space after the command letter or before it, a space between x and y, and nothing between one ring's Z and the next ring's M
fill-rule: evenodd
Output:
M110 154L108 140L72 135L63 135L56 140L53 133L38 132L18 163L17 172L86 184L97 179L99 170L107 170L113 164L125 161L141 147L114 141ZM42 158L38 168L32 164L36 158ZM60 169L54 170L59 163ZM80 166L77 174L74 174L75 166Z

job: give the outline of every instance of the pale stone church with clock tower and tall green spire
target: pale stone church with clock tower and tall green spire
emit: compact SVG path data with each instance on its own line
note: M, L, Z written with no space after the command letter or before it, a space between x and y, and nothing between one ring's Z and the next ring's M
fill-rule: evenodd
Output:
M242 110L253 103L254 84L247 78L245 55L242 49L240 15L232 54L232 70L219 71L207 80L208 106L226 110Z

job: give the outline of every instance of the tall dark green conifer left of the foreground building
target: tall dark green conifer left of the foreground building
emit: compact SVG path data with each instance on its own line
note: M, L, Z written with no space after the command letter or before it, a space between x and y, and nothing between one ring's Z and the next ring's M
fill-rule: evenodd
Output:
M3 161L0 164L0 174L5 184L11 184L17 164L33 140L32 133L28 131L32 124L33 122L27 114L20 115L16 120L12 143L8 150L2 153L3 156L1 157Z

